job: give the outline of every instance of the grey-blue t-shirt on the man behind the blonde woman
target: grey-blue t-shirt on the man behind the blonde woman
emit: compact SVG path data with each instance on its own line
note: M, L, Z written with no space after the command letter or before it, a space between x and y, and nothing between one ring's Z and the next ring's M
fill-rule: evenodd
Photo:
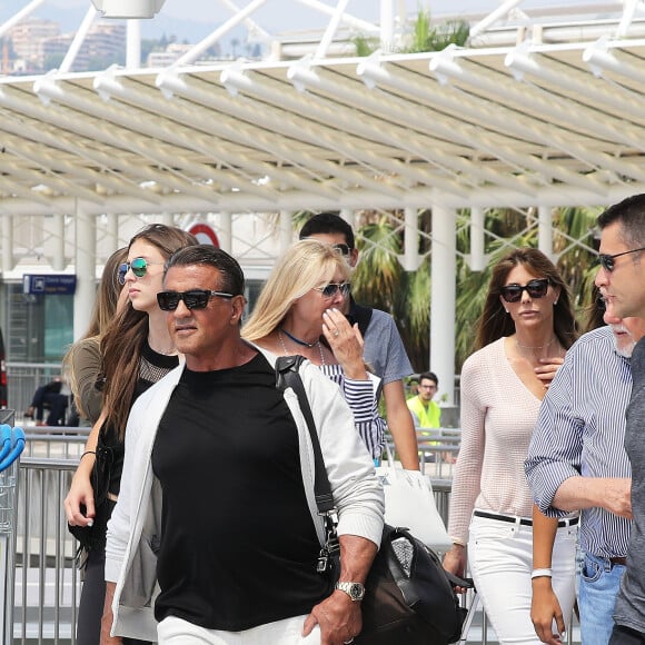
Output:
M363 356L384 385L413 374L400 334L389 314L373 310L364 340Z

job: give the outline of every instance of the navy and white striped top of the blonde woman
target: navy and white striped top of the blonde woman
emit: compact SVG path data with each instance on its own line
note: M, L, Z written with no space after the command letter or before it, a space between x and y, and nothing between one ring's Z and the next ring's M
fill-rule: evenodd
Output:
M345 400L354 413L354 424L373 459L379 459L385 446L385 419L378 414L376 391L378 378L368 375L367 380L346 378L340 365L319 365L322 374L337 383Z

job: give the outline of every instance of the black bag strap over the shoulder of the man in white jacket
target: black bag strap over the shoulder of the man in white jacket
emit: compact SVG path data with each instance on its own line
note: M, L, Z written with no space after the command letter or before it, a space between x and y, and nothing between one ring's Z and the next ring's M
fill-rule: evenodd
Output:
M327 470L325 469L325 459L322 458L314 415L299 374L300 365L302 365L304 360L304 356L279 356L276 360L276 384L280 390L290 387L298 397L298 405L307 421L309 437L311 438L311 445L314 447L314 466L316 468L314 493L316 495L316 506L318 506L318 513L325 514L335 509L334 496L331 495L331 486L329 485Z

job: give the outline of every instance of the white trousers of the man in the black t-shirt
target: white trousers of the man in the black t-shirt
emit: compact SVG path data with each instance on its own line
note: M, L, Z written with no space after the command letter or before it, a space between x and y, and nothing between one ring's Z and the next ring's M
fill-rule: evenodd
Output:
M307 616L295 616L244 632L206 629L188 621L168 616L157 625L159 645L319 645L320 628L314 627L309 636L302 636Z

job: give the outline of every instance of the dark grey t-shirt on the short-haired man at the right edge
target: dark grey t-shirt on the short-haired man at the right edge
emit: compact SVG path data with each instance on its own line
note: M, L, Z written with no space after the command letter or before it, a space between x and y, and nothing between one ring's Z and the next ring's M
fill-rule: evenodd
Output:
M616 598L614 619L618 625L645 634L645 338L632 354L632 378L625 449L632 464L634 522L627 548L627 570Z

